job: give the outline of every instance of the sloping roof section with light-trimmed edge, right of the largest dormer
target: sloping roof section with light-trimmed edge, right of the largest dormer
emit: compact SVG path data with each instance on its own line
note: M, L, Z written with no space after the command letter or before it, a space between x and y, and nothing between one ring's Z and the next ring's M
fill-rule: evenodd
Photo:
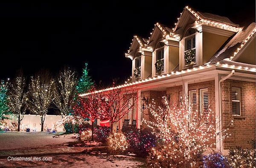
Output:
M253 37L255 30L255 23L243 27L239 32L231 36L221 48L219 48L219 50L210 58L209 63L217 63L226 58L232 60L247 41Z

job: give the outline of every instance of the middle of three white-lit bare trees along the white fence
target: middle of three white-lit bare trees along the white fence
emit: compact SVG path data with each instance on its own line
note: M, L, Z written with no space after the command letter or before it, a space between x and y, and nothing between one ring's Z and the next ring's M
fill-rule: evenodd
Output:
M41 70L29 83L29 108L40 115L41 131L44 131L44 120L48 109L52 105L55 93L55 81L48 70Z

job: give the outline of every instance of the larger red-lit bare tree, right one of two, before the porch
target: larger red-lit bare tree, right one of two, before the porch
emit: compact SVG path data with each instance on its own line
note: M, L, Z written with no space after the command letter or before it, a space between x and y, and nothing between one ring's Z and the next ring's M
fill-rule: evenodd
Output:
M137 95L134 88L116 88L96 94L100 100L99 114L110 121L111 132L113 123L121 120L134 107ZM133 99L133 101L131 101Z

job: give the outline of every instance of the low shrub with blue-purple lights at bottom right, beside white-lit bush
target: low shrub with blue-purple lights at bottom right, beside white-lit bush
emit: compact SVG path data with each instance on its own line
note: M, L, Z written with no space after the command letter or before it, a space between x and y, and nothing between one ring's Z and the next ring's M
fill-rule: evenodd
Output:
M227 161L227 157L218 153L204 156L203 163L205 168L232 168Z

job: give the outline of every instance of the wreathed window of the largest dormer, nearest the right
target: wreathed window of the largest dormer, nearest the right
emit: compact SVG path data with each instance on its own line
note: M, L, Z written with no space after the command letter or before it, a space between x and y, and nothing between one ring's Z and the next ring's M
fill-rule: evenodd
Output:
M195 64L196 60L196 49L195 49L195 29L190 28L185 37L185 48L184 48L184 61L185 65Z

